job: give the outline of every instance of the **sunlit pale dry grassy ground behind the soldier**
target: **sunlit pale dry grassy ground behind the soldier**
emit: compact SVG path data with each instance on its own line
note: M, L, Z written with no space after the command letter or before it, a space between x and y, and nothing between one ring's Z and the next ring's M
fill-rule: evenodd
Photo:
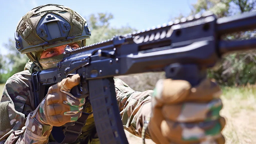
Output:
M0 91L4 85L0 85ZM223 130L226 144L256 143L256 86L222 88L223 109L221 115L227 124ZM142 139L126 131L129 143L142 143ZM153 144L146 140L147 144Z

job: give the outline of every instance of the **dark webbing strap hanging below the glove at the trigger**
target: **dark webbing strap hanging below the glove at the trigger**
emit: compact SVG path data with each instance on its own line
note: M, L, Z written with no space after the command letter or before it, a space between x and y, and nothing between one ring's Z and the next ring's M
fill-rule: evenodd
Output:
M74 122L75 125L65 127L53 127L51 134L58 143L71 143L77 140L82 133L82 128L86 124L86 120L90 114L83 112L82 116Z

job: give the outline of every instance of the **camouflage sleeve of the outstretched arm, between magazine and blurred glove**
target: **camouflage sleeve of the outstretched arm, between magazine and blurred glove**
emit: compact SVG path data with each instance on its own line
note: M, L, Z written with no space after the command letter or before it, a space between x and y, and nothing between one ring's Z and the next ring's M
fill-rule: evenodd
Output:
M153 90L135 91L121 79L114 78L114 81L123 127L133 135L142 137L144 121L151 114ZM145 138L150 139L148 131L145 132Z

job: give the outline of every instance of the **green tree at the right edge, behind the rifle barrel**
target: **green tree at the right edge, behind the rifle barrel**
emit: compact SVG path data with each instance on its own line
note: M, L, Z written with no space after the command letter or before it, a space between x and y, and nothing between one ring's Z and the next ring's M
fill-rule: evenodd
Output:
M231 16L255 9L256 2L250 0L198 0L193 4L191 14L211 11L218 17ZM225 40L248 39L255 30L233 33L222 38ZM218 70L209 70L209 76L223 85L245 85L256 82L256 52L233 53L221 60Z

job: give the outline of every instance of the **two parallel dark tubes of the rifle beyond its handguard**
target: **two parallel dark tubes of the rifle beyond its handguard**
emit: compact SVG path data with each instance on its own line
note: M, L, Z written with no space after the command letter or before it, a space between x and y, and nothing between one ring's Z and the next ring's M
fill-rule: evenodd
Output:
M256 29L256 11L217 19L217 33L219 36L235 32ZM241 50L256 49L256 38L245 40L220 40L219 53L221 55Z

